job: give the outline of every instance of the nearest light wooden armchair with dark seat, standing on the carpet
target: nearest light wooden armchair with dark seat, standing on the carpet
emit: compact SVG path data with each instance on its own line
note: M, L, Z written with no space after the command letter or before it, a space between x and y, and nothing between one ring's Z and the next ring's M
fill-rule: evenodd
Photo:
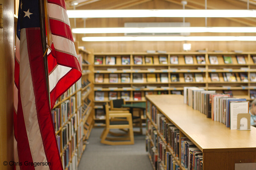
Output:
M106 126L103 130L100 138L102 144L109 145L122 145L122 144L134 144L134 135L133 135L133 127L132 127L132 114L131 113L109 113L109 105L105 105L106 111ZM122 119L120 122L111 121L113 119ZM114 123L113 123L114 122ZM110 129L128 129L126 134L116 134L111 133ZM108 134L115 134L115 136L123 136L123 137L107 137ZM121 141L120 141L121 140Z

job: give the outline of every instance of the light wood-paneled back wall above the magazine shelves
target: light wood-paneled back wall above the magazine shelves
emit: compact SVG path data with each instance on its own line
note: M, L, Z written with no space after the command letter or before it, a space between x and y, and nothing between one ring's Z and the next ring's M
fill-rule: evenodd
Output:
M236 7L236 3L230 3L230 0L212 0L208 1L208 5L219 9L238 9L242 4L240 1ZM232 0L236 2L235 0ZM88 6L79 7L79 9L106 9L111 5L115 5L118 1L109 0L109 4L102 5L105 0L92 3ZM191 1L192 2L192 1ZM203 0L193 0L194 4L204 4ZM190 2L188 2L190 3ZM190 3L191 4L191 3ZM217 5L219 4L219 5ZM222 5L220 7L220 4ZM216 6L217 5L217 6ZM246 7L246 3L244 3ZM235 8L236 7L236 8ZM255 8L255 5L250 5L250 9ZM152 0L146 3L130 6L126 9L181 9L181 4L170 3L165 0ZM246 8L243 8L246 9ZM118 15L118 14L117 14ZM76 19L76 27L84 27L83 19ZM185 18L186 22L190 22L190 26L205 26L204 18ZM74 20L71 18L71 27L74 27ZM124 27L125 22L182 22L182 18L88 18L86 19L86 27ZM255 23L254 19L252 23ZM228 18L207 18L207 26L246 26L245 24L232 21ZM255 36L256 33L191 33L190 36ZM120 41L120 42L83 42L82 36L124 36L124 34L74 34L76 41L79 41L81 46L92 48L95 52L145 52L146 50L166 50L166 51L183 51L183 43L191 43L192 51L208 48L209 51L222 50L242 50L256 51L256 41Z

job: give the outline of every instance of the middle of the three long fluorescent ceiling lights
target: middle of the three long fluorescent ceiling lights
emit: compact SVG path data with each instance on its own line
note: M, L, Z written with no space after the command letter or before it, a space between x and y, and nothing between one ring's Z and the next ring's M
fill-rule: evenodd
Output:
M73 28L72 33L256 33L256 27Z

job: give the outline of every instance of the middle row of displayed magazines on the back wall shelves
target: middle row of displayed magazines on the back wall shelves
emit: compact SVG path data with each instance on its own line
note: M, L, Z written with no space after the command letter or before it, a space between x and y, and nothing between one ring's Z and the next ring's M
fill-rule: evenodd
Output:
M221 73L209 73L212 82L219 82ZM147 73L146 74L147 82L157 82L157 74L156 73ZM234 72L226 72L222 73L223 80L226 82L236 82L237 77ZM247 73L239 73L240 80L242 82L249 82ZM204 82L203 73L184 73L184 81L185 82ZM256 73L250 73L250 80L252 82L256 82ZM104 82L104 74L95 74L95 83L103 83ZM118 83L118 74L110 73L109 74L109 83ZM179 74L171 74L171 82L179 82L180 76ZM133 83L144 83L144 74L143 73L133 73ZM168 83L169 78L167 73L160 73L160 82ZM130 83L130 74L129 73L121 73L121 83Z

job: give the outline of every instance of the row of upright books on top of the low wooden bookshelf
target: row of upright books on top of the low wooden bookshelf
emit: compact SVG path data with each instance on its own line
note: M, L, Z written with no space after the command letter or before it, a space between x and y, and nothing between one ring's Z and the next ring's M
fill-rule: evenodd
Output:
M249 101L246 99L231 98L230 94L205 91L198 87L184 87L184 103L230 129L237 129L237 114L249 113Z

